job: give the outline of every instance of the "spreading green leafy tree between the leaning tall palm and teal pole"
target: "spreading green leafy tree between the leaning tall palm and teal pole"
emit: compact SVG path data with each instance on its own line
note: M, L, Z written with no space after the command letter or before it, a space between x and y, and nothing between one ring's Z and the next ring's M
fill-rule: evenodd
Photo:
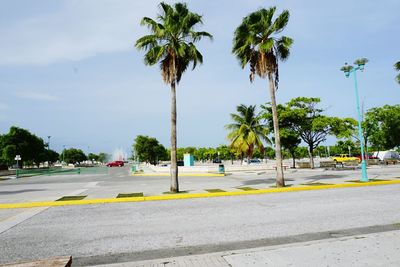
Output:
M314 168L314 150L326 141L327 136L350 137L357 122L351 118L337 118L323 115L318 108L319 98L298 97L282 107L280 118L291 131L299 135L308 145L311 168Z

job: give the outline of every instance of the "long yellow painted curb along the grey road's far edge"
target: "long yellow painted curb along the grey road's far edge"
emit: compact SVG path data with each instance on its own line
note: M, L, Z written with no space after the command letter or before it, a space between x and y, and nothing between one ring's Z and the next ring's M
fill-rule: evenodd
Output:
M333 185L318 185L318 186L270 188L270 189L251 190L251 191L231 191L231 192L196 193L196 194L182 193L182 194L148 196L148 197L103 198L103 199L69 200L69 201L9 203L9 204L0 204L0 209L58 207L58 206L90 205L90 204L105 204L105 203L143 202L143 201L178 200L178 199L190 199L190 198L260 195L260 194L270 194L270 193L298 192L298 191L311 191L311 190L321 190L321 189L351 188L351 187L391 185L391 184L400 184L400 180L348 183L348 184L333 184Z

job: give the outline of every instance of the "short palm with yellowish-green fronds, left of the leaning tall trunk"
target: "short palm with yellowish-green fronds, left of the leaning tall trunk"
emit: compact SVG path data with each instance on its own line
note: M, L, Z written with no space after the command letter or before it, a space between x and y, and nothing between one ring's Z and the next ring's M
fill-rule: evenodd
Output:
M260 113L256 113L256 106L240 105L236 107L237 113L231 113L234 123L225 126L231 132L228 139L230 147L240 154L247 155L248 163L256 148L264 151L263 140L270 143L266 125L261 124L263 119Z

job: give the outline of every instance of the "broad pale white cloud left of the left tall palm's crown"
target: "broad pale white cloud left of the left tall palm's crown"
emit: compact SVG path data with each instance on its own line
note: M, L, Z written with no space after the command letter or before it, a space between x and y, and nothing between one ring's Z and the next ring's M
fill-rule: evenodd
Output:
M157 1L69 0L56 12L0 26L0 65L47 65L133 49Z

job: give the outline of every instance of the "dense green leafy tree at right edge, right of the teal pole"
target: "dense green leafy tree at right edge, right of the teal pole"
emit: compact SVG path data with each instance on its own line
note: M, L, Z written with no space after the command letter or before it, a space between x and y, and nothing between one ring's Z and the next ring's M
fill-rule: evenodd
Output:
M376 150L400 146L400 105L385 105L368 110L365 124L373 129L368 132L368 140Z

